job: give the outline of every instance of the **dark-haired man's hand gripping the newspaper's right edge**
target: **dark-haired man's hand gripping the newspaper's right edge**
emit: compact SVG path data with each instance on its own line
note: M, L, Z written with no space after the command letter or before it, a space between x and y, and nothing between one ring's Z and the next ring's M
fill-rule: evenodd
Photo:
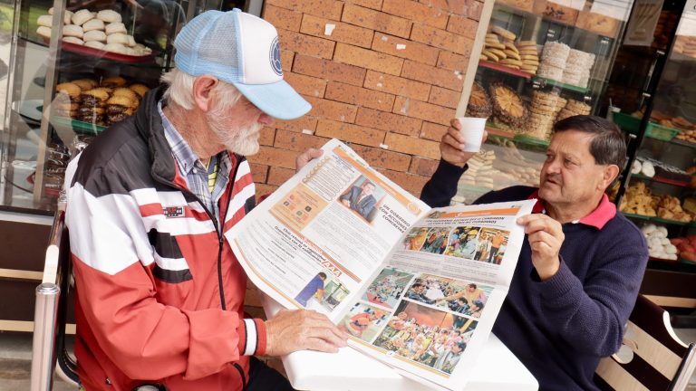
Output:
M532 248L532 263L542 281L548 280L561 266L558 253L565 240L563 227L547 215L525 215L517 219L517 224L525 226L525 234Z

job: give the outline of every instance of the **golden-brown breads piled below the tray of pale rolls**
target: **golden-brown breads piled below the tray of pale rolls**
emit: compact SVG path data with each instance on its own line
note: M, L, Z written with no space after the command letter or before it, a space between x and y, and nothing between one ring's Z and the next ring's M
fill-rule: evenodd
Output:
M92 79L63 82L56 86L54 110L59 117L109 126L131 116L149 90L146 85L129 83L121 76L101 82Z

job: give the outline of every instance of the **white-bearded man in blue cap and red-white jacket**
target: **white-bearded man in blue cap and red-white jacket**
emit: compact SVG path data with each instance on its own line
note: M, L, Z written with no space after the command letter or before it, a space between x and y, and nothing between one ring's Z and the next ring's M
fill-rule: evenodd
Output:
M208 11L174 45L166 85L66 178L82 384L292 389L253 355L335 351L347 336L313 311L248 319L247 276L223 234L255 205L244 156L259 129L311 106L283 81L275 28L256 16Z

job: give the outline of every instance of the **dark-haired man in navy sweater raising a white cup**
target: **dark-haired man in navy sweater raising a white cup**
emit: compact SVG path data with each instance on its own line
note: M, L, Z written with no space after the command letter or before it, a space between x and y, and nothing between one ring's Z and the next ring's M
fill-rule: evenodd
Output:
M440 165L423 187L420 197L431 206L449 205L473 155L463 151L459 129L452 120ZM604 194L625 162L614 123L570 117L554 125L538 187L507 187L474 202L538 200L517 221L526 241L493 331L541 390L596 389L600 358L622 345L648 260L643 234Z

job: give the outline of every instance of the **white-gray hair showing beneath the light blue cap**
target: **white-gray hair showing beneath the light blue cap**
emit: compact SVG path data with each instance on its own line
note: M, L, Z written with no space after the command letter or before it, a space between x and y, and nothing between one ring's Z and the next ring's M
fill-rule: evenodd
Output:
M196 76L191 76L189 73L179 71L173 68L166 72L160 78L160 81L169 85L164 91L164 99L168 103L176 103L184 110L192 110L193 101L193 82L196 81ZM242 94L235 86L225 81L219 81L213 88L212 93L219 97L218 109L227 111L237 103L237 100L242 97Z

